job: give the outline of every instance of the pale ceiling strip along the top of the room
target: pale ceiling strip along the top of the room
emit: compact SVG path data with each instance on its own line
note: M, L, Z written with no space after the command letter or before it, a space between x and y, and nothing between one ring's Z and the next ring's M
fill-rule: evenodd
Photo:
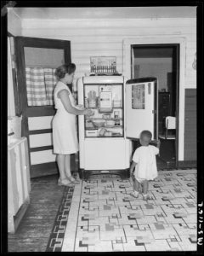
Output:
M13 8L20 19L143 19L195 18L196 7Z

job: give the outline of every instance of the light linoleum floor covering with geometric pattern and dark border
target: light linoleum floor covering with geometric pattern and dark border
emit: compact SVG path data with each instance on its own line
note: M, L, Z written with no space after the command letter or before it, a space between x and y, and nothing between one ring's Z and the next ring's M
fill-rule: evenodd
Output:
M132 180L93 176L67 189L47 251L196 251L196 170L159 172L149 201Z

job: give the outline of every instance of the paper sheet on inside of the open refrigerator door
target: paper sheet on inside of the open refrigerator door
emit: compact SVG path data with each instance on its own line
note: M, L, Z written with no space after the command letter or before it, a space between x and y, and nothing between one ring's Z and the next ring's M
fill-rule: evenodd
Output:
M132 108L144 109L145 108L145 95L144 84L136 84L132 86Z

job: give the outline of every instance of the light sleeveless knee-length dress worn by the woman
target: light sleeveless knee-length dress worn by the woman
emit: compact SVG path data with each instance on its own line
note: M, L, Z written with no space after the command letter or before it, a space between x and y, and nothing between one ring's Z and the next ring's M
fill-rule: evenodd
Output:
M71 105L75 107L71 90L62 82L58 82L54 89L54 104L57 113L53 119L53 144L55 154L74 154L78 151L76 115L68 113L57 94L59 90L67 90Z

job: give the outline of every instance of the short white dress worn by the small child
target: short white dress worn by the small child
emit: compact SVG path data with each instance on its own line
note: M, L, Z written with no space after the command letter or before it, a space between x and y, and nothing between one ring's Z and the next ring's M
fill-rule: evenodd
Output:
M135 166L134 177L137 179L153 180L158 176L156 167L156 154L159 154L159 148L148 145L137 148L133 154Z

